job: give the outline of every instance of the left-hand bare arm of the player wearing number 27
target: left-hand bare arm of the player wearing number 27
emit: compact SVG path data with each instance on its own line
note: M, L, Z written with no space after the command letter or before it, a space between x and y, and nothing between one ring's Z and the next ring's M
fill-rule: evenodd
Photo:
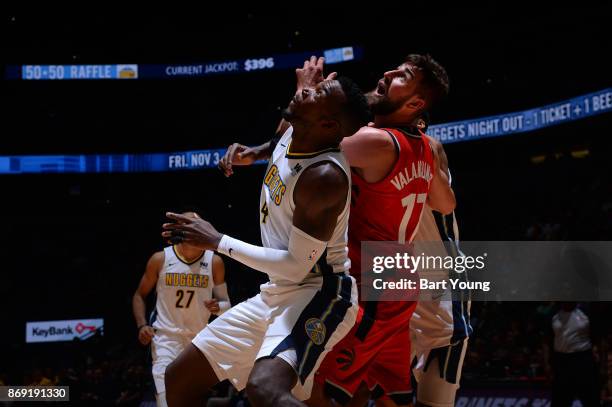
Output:
M140 279L138 288L132 297L132 312L134 313L134 319L136 320L136 326L138 327L138 340L143 345L148 345L155 335L155 331L147 323L146 314L146 302L145 299L149 293L155 288L159 271L164 264L164 252L157 252L151 256L147 262L147 268Z

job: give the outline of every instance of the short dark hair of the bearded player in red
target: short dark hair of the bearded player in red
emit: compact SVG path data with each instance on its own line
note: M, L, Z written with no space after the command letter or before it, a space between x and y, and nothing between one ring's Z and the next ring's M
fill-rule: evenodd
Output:
M446 69L429 54L410 54L405 63L417 67L423 74L420 88L427 98L427 108L431 108L448 95L449 79Z

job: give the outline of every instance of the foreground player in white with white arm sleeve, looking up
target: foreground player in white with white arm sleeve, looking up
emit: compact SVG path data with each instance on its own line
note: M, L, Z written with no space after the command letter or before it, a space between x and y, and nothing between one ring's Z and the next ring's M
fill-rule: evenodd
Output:
M324 355L352 328L357 288L348 274L350 167L339 149L367 123L366 99L348 79L297 92L291 124L271 154L260 198L263 247L208 222L168 214L162 235L214 249L262 271L261 293L208 325L168 366L169 405L195 405L229 379L254 406L303 406Z

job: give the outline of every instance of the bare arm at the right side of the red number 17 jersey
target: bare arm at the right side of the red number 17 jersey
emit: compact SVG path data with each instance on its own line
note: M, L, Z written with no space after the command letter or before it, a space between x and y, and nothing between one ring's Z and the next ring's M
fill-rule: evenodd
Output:
M457 205L455 192L450 185L448 158L442 143L432 137L427 138L434 153L434 177L427 194L427 204L443 215L448 215Z

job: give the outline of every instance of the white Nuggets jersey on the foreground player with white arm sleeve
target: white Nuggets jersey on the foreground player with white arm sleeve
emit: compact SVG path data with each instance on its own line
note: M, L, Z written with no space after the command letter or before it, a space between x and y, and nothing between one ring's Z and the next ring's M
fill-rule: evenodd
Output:
M290 127L276 145L270 157L260 197L260 228L263 246L282 250L288 249L289 235L293 226L293 211L295 210L293 191L300 174L306 168L321 161L331 161L345 172L350 186L350 167L339 148L308 154L291 153L292 134L293 127ZM334 273L348 271L350 268L347 254L349 209L350 194L347 194L346 205L338 216L336 227L327 243L322 259L331 266ZM313 272L307 276L307 279L312 276L320 276L317 266L315 266L316 270L313 269ZM273 286L287 285L295 284L286 280L272 280L262 286L262 291Z

